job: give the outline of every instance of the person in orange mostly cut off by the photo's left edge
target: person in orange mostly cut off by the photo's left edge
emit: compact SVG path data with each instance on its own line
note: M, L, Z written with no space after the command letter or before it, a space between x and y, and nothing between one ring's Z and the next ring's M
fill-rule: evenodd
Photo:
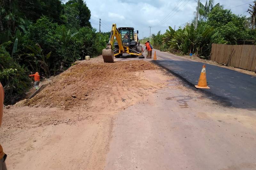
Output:
M2 124L4 112L4 88L0 82L0 127ZM2 146L0 145L0 170L7 170L5 165L5 159L7 155L4 153Z

